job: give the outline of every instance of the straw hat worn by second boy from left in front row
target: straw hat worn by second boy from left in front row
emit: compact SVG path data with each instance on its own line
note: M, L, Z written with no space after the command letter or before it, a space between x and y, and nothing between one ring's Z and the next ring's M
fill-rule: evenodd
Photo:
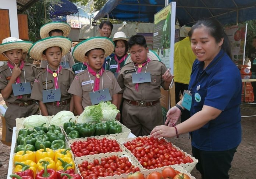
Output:
M69 38L63 36L43 38L31 46L29 55L35 60L44 60L43 51L54 46L60 47L62 49L62 56L64 56L70 50L72 42Z

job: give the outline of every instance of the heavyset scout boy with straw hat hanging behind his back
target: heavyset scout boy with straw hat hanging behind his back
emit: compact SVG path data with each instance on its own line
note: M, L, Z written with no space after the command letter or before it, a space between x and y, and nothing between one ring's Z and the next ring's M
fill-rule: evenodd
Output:
M144 36L132 36L128 45L130 56L127 57L127 62L132 61L121 68L117 77L117 82L122 89L118 94L118 101L124 98L122 120L134 135L149 135L155 126L163 123L159 101L160 86L168 90L173 76L154 52L148 53L149 49ZM136 80L136 74L139 73L145 74L144 81L137 80L136 82L140 83L133 83L132 81Z

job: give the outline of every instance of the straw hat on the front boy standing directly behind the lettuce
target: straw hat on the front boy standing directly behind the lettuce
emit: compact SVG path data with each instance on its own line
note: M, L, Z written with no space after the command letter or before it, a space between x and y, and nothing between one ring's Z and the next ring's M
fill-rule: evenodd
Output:
M85 53L95 49L101 48L105 51L105 57L113 53L115 44L107 37L92 37L80 42L75 46L72 55L78 61L85 61Z

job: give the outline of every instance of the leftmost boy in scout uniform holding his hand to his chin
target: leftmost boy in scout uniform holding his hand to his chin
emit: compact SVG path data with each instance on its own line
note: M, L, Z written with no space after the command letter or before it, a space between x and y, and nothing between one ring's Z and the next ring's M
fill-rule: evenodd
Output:
M25 118L37 114L39 109L35 101L30 99L33 81L38 71L36 66L24 63L21 60L22 52L27 52L32 42L25 42L14 37L8 37L0 44L0 53L8 58L7 65L0 68L0 90L7 102L8 108L5 113L6 119L6 142L11 142L13 127L16 126L16 118ZM17 86L15 84L21 84ZM25 84L28 88L24 88ZM15 89L24 92L14 96ZM25 94L25 92L28 93ZM15 93L17 94L17 93Z

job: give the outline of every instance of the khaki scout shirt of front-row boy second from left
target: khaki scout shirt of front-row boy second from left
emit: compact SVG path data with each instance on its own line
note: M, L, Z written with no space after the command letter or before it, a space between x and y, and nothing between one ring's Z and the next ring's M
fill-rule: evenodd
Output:
M49 66L48 68L53 71ZM48 73L48 77L46 80L46 75ZM60 88L60 101L65 101L71 98L71 94L68 93L68 89L74 79L74 72L69 69L62 68L58 74L58 87ZM47 81L47 82L46 82ZM34 86L31 93L31 99L43 101L43 90L47 89L55 89L54 85L54 77L52 74L47 72L46 70L40 72L36 77L34 82Z

